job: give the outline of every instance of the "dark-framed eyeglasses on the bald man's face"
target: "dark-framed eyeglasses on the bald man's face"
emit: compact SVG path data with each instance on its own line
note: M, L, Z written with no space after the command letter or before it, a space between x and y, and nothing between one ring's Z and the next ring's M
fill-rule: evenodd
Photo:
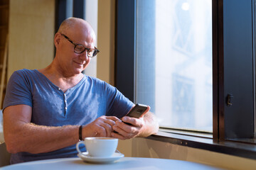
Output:
M70 40L66 35L60 33L61 35L63 35L63 37L65 37L65 39L67 39L69 42L71 42L73 45L75 45L74 47L74 52L77 54L81 54L82 52L84 52L85 50L87 50L87 56L88 57L95 57L95 55L97 55L98 52L100 52L100 50L97 50L97 48L87 48L83 45L80 44L76 44L75 42L73 42L72 40Z

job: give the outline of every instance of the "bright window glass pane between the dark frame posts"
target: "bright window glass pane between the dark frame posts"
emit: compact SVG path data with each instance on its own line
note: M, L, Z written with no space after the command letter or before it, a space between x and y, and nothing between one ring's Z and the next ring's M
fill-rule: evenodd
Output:
M139 0L136 23L136 102L161 126L212 132L211 0Z

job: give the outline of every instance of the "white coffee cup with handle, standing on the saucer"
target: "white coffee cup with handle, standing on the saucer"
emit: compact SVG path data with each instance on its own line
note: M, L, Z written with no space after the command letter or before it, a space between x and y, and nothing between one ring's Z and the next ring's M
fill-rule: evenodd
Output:
M112 137L85 137L84 141L80 141L76 145L78 153L82 154L79 149L80 144L85 145L90 157L111 157L117 149L118 139Z

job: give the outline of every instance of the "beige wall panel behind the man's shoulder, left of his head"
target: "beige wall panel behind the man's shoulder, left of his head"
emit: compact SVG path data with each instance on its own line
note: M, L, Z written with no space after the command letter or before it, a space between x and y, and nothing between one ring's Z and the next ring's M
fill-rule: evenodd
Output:
M41 69L54 57L55 1L10 0L8 78L17 69Z

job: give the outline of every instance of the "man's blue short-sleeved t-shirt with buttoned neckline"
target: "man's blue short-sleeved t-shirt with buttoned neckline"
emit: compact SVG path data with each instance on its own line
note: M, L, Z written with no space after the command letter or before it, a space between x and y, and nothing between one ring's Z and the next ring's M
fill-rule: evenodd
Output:
M11 75L4 98L4 108L14 105L32 107L31 123L46 126L86 125L101 115L122 118L132 108L114 86L84 75L65 93L38 70L21 69ZM3 108L3 109L4 109ZM11 154L11 164L40 159L77 157L75 145L42 154Z

